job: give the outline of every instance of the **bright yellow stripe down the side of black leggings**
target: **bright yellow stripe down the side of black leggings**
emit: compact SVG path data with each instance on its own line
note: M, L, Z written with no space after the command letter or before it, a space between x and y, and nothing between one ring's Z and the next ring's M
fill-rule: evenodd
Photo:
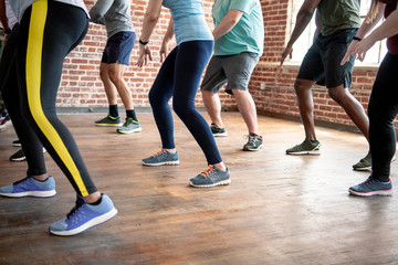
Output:
M33 2L27 50L27 91L29 108L39 128L51 142L52 147L71 172L82 195L86 197L88 195L88 192L83 182L82 176L80 174L76 165L74 163L60 135L45 117L41 105L41 65L46 13L48 0L38 0Z

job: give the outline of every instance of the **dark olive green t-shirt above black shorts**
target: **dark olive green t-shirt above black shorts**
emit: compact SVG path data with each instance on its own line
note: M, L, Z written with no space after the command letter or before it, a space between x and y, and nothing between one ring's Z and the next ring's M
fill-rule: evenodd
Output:
M360 0L322 0L317 7L322 22L322 34L343 30L359 28Z

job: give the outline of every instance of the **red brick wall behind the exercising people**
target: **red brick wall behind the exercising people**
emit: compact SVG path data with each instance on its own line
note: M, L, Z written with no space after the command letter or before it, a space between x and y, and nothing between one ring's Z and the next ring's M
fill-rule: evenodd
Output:
M95 1L86 0L90 9ZM296 65L287 65L282 73L276 75L276 67L285 42L290 36L291 9L293 0L261 0L264 15L264 54L261 57L250 82L250 91L256 103L259 113L285 118L298 119L294 78L297 73ZM212 29L211 6L212 0L203 0L207 21ZM147 0L132 0L132 18L139 36L143 17ZM296 3L294 3L296 4ZM135 66L137 62L137 42L133 50L130 66L125 78L132 91L136 107L148 107L147 94L160 66L158 50L163 34L167 29L169 14L164 9L159 22L150 38L150 47L155 61L144 68ZM102 82L98 77L101 54L106 42L106 32L102 25L90 25L88 33L83 43L78 45L66 59L64 73L60 87L59 107L106 107L107 100ZM368 96L376 75L374 67L355 68L353 95L367 108ZM327 95L324 87L314 87L315 119L318 123L337 124L352 127L353 123ZM233 98L226 93L220 93L222 106L237 109ZM121 102L122 104L122 102ZM197 106L202 107L200 93Z

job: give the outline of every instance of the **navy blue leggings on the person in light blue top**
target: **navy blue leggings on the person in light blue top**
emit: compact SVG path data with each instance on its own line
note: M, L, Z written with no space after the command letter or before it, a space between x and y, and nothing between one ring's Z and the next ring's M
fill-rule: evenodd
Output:
M221 162L214 137L195 107L201 75L212 53L213 41L189 41L175 47L165 60L149 92L149 102L163 148L175 148L172 108L205 152L209 165Z

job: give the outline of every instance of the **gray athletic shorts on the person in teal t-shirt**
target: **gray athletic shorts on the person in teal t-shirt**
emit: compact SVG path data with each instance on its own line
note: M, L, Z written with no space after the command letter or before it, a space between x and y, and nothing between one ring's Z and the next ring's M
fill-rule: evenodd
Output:
M218 93L228 83L226 92L233 88L248 91L249 81L259 62L256 53L243 52L234 55L212 56L200 89Z

